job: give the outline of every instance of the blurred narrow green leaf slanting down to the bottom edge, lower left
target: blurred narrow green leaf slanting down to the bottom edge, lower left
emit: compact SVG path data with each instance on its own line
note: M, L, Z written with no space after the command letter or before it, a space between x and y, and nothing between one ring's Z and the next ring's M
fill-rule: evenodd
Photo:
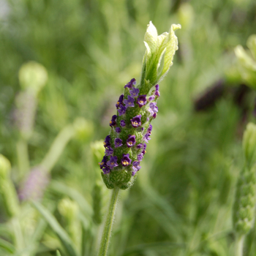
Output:
M42 214L42 216L46 219L46 221L53 229L53 231L56 233L56 235L59 236L59 239L63 244L64 248L67 250L68 255L78 256L78 253L75 250L75 244L73 244L71 238L69 238L64 228L61 227L61 225L59 225L59 222L56 220L53 214L51 214L47 208L42 206L42 204L37 203L35 201L33 201L32 203L34 207L37 208L37 210L40 212L40 214Z

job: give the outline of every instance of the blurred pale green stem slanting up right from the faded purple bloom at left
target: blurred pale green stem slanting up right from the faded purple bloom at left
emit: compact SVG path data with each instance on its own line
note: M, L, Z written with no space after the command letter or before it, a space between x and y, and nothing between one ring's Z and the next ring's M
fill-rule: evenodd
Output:
M67 125L57 135L53 144L50 146L48 153L45 155L45 158L42 159L40 165L46 168L48 172L53 168L53 166L58 161L61 153L64 151L64 148L67 146L69 140L75 135L75 130L72 125Z

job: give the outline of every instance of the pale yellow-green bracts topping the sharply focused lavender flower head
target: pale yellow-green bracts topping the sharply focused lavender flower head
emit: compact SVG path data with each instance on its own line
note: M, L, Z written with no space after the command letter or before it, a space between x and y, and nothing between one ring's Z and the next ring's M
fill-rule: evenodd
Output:
M174 31L181 25L173 24L170 31L158 35L150 21L144 37L146 53L143 57L143 72L140 80L140 93L147 94L152 86L159 83L173 64L173 56L178 50L178 38Z

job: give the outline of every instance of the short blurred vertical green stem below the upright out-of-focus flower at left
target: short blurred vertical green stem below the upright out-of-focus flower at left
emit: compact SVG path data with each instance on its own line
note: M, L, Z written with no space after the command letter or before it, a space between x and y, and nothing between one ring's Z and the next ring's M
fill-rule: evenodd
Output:
M29 151L28 143L23 138L18 140L16 145L18 157L19 178L23 178L29 172Z

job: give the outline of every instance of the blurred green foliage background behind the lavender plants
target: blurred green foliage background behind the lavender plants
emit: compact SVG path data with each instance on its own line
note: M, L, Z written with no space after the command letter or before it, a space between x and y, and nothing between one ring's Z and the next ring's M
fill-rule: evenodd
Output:
M246 48L255 13L253 0L0 0L0 153L12 164L15 190L29 175L19 170L13 114L24 63L37 61L48 71L26 140L30 167L42 162L63 127L86 120L83 136L70 139L51 168L37 206L54 225L28 202L8 214L1 197L0 255L50 256L56 249L72 255L56 225L77 255L97 252L110 191L99 178L95 141L108 135L124 84L140 78L149 20L159 34L181 23L179 50L160 83L159 114L138 179L121 191L110 255L229 255L241 138L255 121L256 96L239 75L234 48ZM200 106L202 95L211 108ZM255 239L253 229L244 255L255 255Z

